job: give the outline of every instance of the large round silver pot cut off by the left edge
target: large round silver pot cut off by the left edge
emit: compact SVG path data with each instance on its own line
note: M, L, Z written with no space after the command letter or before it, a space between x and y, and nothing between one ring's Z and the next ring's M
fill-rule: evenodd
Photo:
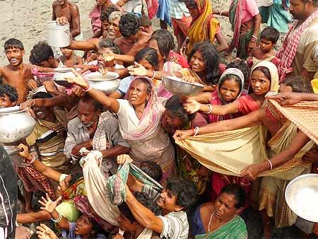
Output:
M18 106L0 109L0 142L13 143L29 136L35 128L35 119Z

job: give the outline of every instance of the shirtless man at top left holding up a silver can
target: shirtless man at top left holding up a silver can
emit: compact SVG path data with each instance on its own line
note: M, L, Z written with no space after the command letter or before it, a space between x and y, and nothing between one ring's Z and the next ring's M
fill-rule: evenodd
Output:
M52 21L64 16L69 21L71 36L76 37L81 34L80 15L76 4L67 0L57 0L53 2L52 8Z

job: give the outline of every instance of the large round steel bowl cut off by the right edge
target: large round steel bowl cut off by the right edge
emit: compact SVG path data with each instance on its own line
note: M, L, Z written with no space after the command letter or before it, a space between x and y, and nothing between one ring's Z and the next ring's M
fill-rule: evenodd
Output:
M318 175L300 175L291 180L285 190L290 209L307 221L318 222Z

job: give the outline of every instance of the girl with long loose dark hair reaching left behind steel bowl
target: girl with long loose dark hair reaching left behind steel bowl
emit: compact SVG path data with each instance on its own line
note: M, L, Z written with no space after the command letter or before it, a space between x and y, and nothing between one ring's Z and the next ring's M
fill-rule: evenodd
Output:
M134 76L148 76L160 80L162 76L176 76L184 81L204 84L204 91L214 91L216 89L216 78L219 76L218 53L209 42L201 42L194 46L188 56L191 68L180 71L149 71L143 66L131 69L129 74Z

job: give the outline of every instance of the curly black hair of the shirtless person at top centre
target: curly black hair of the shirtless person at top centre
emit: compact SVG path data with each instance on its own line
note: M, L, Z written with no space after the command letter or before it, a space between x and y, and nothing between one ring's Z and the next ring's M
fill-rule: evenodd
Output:
M119 21L119 32L124 38L136 35L139 30L139 18L134 13L126 13Z

